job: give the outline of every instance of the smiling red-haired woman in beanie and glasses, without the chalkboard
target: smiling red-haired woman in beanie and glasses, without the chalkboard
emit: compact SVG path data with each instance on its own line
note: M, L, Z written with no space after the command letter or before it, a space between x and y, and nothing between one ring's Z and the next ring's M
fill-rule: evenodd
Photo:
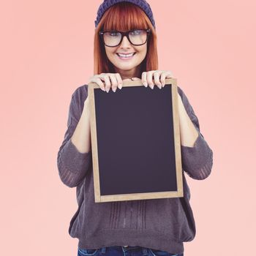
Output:
M157 35L146 1L105 0L95 26L94 76L89 82L106 93L122 89L127 79L141 79L151 89L165 86L171 72L157 69ZM87 94L87 85L72 94L67 132L58 153L61 181L77 189L78 211L70 221L69 235L79 240L78 255L184 255L184 241L195 238L184 172L184 197L94 203ZM191 178L207 178L213 153L179 86L178 114L182 169Z

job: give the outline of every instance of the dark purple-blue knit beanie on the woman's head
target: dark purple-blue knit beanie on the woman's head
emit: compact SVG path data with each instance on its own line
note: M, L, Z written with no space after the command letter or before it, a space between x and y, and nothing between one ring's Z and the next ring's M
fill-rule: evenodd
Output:
M94 21L95 28L98 26L99 21L101 20L104 12L112 5L120 3L121 1L124 1L124 0L104 0L104 2L100 4L99 10L97 12L97 18ZM125 1L129 1L132 4L138 5L138 7L140 7L146 13L148 18L151 20L151 23L154 26L154 29L156 29L153 12L151 11L150 5L146 2L146 0L125 0Z

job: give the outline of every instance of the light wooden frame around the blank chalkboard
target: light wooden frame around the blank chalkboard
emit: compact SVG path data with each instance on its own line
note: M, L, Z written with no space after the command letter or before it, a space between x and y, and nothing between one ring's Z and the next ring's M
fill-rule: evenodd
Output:
M153 80L154 82L154 80ZM141 80L127 80L123 81L123 89L131 86L143 86ZM93 178L94 178L94 197L95 202L110 202L110 201L121 201L121 200L143 200L143 199L156 199L166 197L183 197L183 180L182 180L182 168L181 168L181 142L180 142L180 130L179 130L179 118L178 118L178 89L176 78L167 78L165 80L165 86L171 86L170 99L173 107L173 140L175 150L175 166L176 166L176 191L164 191L164 192L143 192L143 193L129 193L129 194L118 194L118 195L101 195L100 182L99 182L99 159L98 159L98 144L97 144L97 119L95 110L95 99L94 91L101 90L97 83L89 83L88 94L89 94L89 109L90 109L90 122L91 122L91 151L92 151L92 164L93 164ZM143 86L144 87L144 86ZM145 88L145 90L151 90ZM164 88L165 89L165 88ZM117 89L118 90L118 89ZM159 90L157 86L154 86L154 90ZM163 90L163 89L162 89ZM104 94L116 94L111 89L107 93L102 91ZM107 95L108 96L108 95Z

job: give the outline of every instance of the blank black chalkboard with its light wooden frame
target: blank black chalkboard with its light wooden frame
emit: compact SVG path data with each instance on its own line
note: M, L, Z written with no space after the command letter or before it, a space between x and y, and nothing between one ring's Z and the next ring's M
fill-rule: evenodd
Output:
M95 202L183 197L176 79L89 83Z

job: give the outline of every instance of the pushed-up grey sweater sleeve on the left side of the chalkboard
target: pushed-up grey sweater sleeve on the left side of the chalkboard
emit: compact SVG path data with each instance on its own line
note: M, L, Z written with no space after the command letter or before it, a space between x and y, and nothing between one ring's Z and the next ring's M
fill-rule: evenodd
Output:
M83 102L86 100L86 97L87 87L85 89L84 86L80 86L72 94L72 99L69 103L67 130L58 151L57 166L59 177L67 187L77 187L80 181L86 177L91 164L91 150L86 153L80 153L71 140L82 115Z

